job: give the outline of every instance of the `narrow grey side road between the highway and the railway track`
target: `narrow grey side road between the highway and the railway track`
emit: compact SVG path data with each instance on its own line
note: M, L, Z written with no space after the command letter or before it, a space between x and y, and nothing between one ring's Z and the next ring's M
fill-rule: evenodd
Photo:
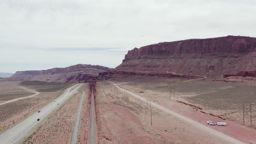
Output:
M71 144L76 144L77 143L77 136L78 136L78 130L79 130L79 123L80 123L80 119L81 119L81 113L82 113L82 108L83 108L83 101L84 101L84 92L82 93L82 97L79 103L79 109L77 112L77 118L75 119L75 124L74 124L74 128L72 131L72 137L71 137Z

